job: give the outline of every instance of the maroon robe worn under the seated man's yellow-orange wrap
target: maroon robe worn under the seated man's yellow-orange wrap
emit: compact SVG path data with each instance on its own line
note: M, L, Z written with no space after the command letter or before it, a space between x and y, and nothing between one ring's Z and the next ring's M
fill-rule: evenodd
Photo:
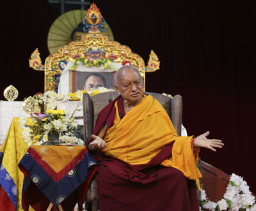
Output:
M99 133L104 122L109 127L113 124L116 100L118 112L124 117L123 99L119 96L99 113L94 135ZM91 138L88 143L92 141ZM160 165L172 156L172 146L173 142L166 145L147 164L134 166L104 154L93 156L99 164L95 175L100 211L198 211L195 181L186 178L182 171Z

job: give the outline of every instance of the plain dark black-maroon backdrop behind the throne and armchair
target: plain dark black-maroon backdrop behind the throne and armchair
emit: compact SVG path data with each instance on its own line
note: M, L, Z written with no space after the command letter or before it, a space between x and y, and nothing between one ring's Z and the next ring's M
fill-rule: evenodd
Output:
M150 50L160 70L147 73L146 90L180 94L189 135L209 130L223 149L203 149L205 162L244 177L256 193L256 1L93 1L115 40L145 60ZM47 33L60 15L47 1L2 1L1 86L18 100L44 92L44 73L28 66L35 48L49 55ZM3 6L4 5L4 6ZM0 99L4 99L0 95Z

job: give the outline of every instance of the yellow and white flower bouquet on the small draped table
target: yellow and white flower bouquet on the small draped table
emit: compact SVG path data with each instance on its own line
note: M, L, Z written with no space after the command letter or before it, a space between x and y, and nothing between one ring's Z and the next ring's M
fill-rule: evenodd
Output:
M81 129L74 119L74 113L70 110L47 110L45 113L31 113L32 125L26 124L26 120L20 118L22 137L28 147L32 144L40 145L47 140L54 139L66 143L83 145L83 140L76 137L77 130ZM63 138L64 137L64 138Z

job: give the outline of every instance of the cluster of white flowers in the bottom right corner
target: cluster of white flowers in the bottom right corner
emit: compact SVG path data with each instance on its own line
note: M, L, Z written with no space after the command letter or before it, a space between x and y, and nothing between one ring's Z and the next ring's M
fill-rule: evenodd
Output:
M230 211L256 211L255 197L249 191L249 186L243 177L232 173L227 191L223 199L214 203L206 198L205 191L202 189L200 210L202 208L212 211L230 210Z

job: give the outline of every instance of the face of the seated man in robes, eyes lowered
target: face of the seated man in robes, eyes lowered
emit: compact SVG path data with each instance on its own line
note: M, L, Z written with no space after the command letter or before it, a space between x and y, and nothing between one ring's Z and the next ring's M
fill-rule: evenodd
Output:
M136 70L125 69L120 76L118 86L115 86L115 90L128 103L136 103L143 97L144 80Z

